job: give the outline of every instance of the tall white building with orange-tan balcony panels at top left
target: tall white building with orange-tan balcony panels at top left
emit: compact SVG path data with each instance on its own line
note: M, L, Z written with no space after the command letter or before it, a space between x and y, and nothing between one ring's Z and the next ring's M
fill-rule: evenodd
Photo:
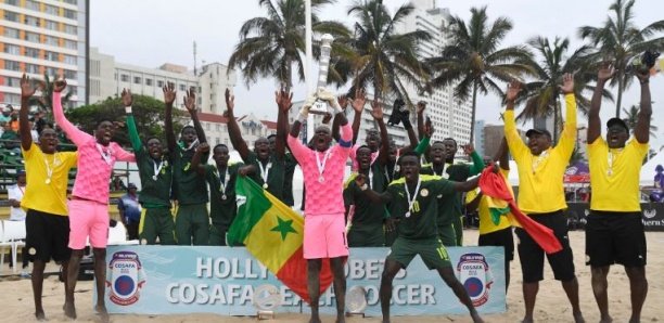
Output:
M87 102L88 0L0 2L0 103L21 105L21 77L63 75L74 95Z

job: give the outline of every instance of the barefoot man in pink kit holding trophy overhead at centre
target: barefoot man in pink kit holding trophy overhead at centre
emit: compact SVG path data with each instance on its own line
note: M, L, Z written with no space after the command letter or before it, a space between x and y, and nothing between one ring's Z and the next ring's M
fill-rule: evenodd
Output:
M330 146L332 135L330 128L316 128L312 138L314 148L304 145L299 139L299 129L307 119L315 98L309 98L299 111L299 116L291 127L288 143L302 167L306 188L304 258L307 259L307 283L311 299L310 322L320 322L318 300L320 298L319 273L322 259L330 259L334 276L336 298L336 322L344 322L346 280L344 260L348 257L344 223L344 201L342 196L344 168L352 147L353 130L343 114L336 98L324 89L319 89L317 96L327 101L335 118L341 118L341 138L337 144ZM290 108L288 102L280 104Z

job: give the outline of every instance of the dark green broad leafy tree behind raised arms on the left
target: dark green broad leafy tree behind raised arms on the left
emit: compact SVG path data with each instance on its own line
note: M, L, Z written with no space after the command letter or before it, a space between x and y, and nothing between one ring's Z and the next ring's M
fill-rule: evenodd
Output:
M135 94L131 106L141 139L148 140L151 137L156 137L165 143L164 102L150 96ZM113 135L113 141L123 146L131 146L129 134L125 127L125 108L119 98L108 98L95 104L67 109L65 113L72 124L77 125L88 133L93 133L100 121L113 121L118 126ZM174 131L179 133L186 124L186 113L174 109L174 120L176 120L174 122Z

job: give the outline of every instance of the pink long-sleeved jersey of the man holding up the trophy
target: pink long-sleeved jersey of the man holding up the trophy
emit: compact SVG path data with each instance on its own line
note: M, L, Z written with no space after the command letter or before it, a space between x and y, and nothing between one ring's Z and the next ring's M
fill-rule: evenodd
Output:
M305 215L333 215L343 214L344 198L344 170L350 152L353 129L350 125L341 127L341 140L339 144L328 150L329 155L321 175L318 170L318 160L322 163L325 152L317 152L304 145L297 138L289 135L289 147L302 168L306 189ZM318 159L316 155L318 154Z

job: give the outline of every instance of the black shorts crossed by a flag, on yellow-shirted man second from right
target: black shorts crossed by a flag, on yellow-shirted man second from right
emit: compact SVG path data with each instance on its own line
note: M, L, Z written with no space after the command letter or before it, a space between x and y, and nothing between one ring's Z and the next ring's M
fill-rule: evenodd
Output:
M553 277L557 281L569 282L574 279L574 257L567 237L567 219L562 210L550 214L528 215L531 219L551 230L562 245L563 249L551 255L547 255ZM544 280L544 257L545 251L528 235L525 230L516 228L519 237L519 258L523 272L524 283L535 283Z

